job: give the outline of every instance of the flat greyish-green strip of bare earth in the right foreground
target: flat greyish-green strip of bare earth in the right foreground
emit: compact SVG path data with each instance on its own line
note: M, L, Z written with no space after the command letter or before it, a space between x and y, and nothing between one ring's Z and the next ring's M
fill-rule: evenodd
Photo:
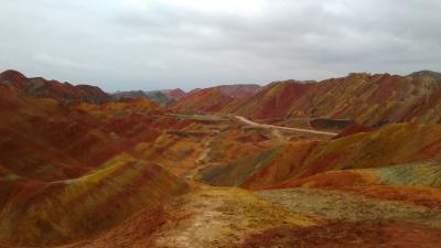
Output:
M258 195L291 211L347 222L395 220L441 227L441 212L398 201L368 198L338 191L292 188L261 191Z

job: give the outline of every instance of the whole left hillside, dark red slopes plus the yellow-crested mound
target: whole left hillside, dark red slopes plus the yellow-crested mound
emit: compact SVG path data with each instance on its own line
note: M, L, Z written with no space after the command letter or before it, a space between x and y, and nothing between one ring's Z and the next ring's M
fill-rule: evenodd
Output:
M189 122L161 118L149 99L65 105L18 87L32 84L21 74L2 76L0 246L89 237L187 191L182 179L132 150Z

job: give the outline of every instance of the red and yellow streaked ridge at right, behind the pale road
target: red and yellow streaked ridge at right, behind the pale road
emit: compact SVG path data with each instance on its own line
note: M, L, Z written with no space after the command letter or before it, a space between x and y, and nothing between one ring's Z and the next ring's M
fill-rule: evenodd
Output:
M258 119L318 117L363 125L441 122L441 83L433 77L351 74L320 83L272 83L224 108Z

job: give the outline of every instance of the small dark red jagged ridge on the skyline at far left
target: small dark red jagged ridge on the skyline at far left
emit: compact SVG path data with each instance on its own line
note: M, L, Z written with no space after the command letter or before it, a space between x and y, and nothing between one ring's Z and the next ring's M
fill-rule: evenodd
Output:
M90 85L71 85L57 80L46 80L41 77L28 78L15 71L6 71L0 74L0 84L12 86L21 93L39 97L54 98L65 103L87 101L103 104L110 100L105 91Z

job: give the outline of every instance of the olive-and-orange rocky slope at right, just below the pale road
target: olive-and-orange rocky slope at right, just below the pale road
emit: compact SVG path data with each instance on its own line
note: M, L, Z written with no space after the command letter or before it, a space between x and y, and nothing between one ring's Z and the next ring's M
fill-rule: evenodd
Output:
M400 123L329 141L293 141L286 144L266 165L254 171L243 186L261 188L325 171L441 159L440 137L440 125Z

